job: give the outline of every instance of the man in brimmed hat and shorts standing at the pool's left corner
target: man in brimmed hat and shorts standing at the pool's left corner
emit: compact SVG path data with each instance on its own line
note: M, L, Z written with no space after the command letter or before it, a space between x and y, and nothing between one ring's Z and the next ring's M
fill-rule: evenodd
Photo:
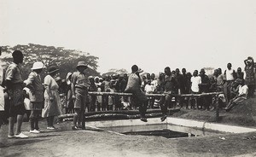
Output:
M74 111L73 116L73 130L78 130L79 128L85 129L85 126L81 125L81 116L85 111L85 102L88 94L88 80L85 77L84 70L87 65L84 61L79 61L77 65L77 72L74 72L71 78L71 90L73 93L72 98L74 99Z

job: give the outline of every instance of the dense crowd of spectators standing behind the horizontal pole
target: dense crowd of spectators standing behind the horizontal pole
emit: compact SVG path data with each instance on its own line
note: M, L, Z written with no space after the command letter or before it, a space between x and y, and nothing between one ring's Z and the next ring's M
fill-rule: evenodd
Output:
M200 72L195 70L192 74L187 73L183 68L180 72L179 68L171 71L170 67L164 69L164 73L160 73L159 77L155 77L154 73L140 73L141 90L147 94L169 93L173 95L181 94L201 94L209 92L223 92L219 96L219 102L223 108L228 107L229 102L239 95L239 88L246 85L248 91L246 96L253 96L255 90L255 65L252 57L248 57L245 61L245 73L241 71L241 67L237 70L232 69L231 63L227 64L227 69L222 73L222 69L214 70L211 76L207 76L205 69ZM67 78L70 74L67 75ZM67 81L68 82L68 81ZM89 77L89 91L98 92L125 92L128 82L127 73L105 75L102 78ZM244 86L244 88L246 88ZM70 96L67 95L67 100ZM166 96L165 100L161 96L147 96L147 108L160 108L160 104L166 103L167 108L175 108L179 105L181 108L194 109L214 109L216 97L203 96L197 99L189 99L189 97ZM72 111L72 101L67 101L67 111ZM88 95L87 107L88 111L105 111L119 109L133 109L136 102L132 102L127 96L90 96ZM233 102L233 103L236 103ZM70 108L71 107L71 108ZM229 108L230 109L230 108ZM228 109L228 110L229 110Z

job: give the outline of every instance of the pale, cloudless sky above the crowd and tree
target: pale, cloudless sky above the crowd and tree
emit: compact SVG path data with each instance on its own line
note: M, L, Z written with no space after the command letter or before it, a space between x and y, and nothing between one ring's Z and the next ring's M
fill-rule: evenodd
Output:
M100 73L243 68L256 59L256 1L0 0L0 45L30 43L98 56Z

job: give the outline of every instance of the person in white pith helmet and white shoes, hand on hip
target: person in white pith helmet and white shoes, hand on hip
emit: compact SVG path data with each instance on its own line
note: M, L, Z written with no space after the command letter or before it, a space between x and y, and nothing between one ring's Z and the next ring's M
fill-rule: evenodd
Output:
M32 72L28 75L28 78L24 81L26 87L32 92L29 97L32 104L31 114L30 114L30 133L39 133L38 119L43 108L44 102L44 85L40 77L44 69L44 63L41 61L34 62L32 66Z

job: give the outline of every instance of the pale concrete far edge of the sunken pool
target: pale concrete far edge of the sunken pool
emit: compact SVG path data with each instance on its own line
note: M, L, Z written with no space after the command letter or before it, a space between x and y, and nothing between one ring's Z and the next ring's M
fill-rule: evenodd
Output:
M148 119L147 123L142 122L140 119L122 119L122 120L105 120L105 121L90 121L86 122L86 125L104 128L104 127L116 127L116 126L135 126L135 125L180 125L185 127L193 127L198 129L206 129L212 131L223 131L230 133L244 133L256 131L253 127L244 127L237 125L223 125L218 123L203 122L194 119L179 119L167 117L164 122L160 121L160 118Z

